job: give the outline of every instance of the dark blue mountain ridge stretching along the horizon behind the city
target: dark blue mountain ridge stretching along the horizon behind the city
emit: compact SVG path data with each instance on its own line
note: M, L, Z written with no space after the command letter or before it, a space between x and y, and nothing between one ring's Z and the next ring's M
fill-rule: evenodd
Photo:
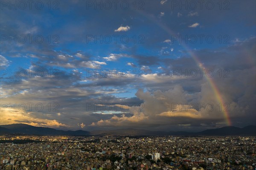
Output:
M151 131L133 128L117 130L56 130L49 127L36 127L26 124L0 125L0 135L40 135L40 136L256 136L256 126L243 128L226 126L217 129L208 129L201 132L185 131Z

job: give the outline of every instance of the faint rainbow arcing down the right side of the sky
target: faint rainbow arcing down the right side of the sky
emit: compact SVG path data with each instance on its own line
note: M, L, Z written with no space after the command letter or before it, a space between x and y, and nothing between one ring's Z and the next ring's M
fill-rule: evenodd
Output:
M160 28L162 28L164 31L166 31L169 35L176 35L174 31L172 31L170 28L168 28L167 26L165 26L163 23L160 23L159 20L157 20L156 17L154 17L153 15L150 14L146 14L143 10L136 10L136 12L138 12L139 14L143 15L144 17L148 18L149 20L153 21L154 23L157 24L157 26L160 26ZM183 48L185 48L188 52L189 55L192 57L192 59L195 60L195 62L198 64L198 66L201 69L205 69L204 65L202 62L200 62L200 60L198 59L198 57L192 52L192 50L189 49L189 47L187 45L183 45ZM213 81L212 78L205 76L207 79L207 82L209 83L210 87L212 88L213 93L215 94L215 99L216 101L221 105L224 106L225 105L225 101L221 95L221 92L218 89L218 86L215 84L215 82ZM222 108L222 107L221 107ZM231 120L230 120L230 113L228 111L224 111L224 109L221 109L222 113L224 115L224 119L225 122L228 126L231 126Z

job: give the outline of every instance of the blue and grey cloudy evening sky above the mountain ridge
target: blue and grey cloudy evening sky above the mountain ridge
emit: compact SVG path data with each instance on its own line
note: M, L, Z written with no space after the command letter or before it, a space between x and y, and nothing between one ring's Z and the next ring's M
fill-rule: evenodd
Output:
M0 125L256 125L256 1L0 5Z

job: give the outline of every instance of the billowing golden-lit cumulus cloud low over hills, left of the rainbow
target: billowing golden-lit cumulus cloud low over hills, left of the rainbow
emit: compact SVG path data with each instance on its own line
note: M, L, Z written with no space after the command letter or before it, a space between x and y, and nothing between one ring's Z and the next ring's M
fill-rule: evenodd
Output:
M175 86L174 89L162 92L154 91L153 94L149 92L143 92L142 89L138 90L136 95L143 99L144 102L141 104L138 109L133 109L130 107L131 113L133 116L117 117L113 116L108 120L100 120L98 122L92 123L90 126L100 126L100 127L131 127L131 126L159 126L161 125L170 125L179 122L180 124L186 124L184 117L200 119L201 116L198 111L191 109L191 112L178 111L168 111L172 107L172 102L185 102L186 101L186 92L183 91L181 86ZM184 106L183 106L184 107ZM173 118L171 121L170 118ZM175 121L174 121L175 118Z

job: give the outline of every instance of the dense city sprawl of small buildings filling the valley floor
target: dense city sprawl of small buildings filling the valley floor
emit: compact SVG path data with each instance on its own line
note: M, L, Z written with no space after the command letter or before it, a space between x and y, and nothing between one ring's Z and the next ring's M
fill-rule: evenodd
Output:
M255 136L0 136L0 170L256 170Z

